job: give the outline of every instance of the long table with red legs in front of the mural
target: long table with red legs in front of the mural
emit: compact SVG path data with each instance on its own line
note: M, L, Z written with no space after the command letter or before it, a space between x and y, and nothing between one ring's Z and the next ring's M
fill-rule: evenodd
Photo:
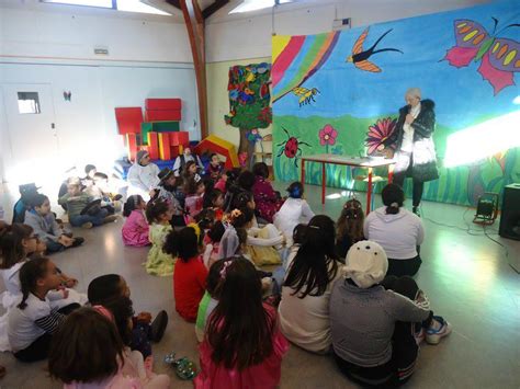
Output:
M393 159L370 158L370 157L343 157L337 155L314 155L302 157L302 185L305 185L305 162L321 163L321 204L325 204L325 184L327 181L325 164L342 164L353 168L365 168L369 170L369 187L366 190L366 215L370 213L370 204L372 199L372 171L374 168L388 167L388 183L392 182L394 175Z

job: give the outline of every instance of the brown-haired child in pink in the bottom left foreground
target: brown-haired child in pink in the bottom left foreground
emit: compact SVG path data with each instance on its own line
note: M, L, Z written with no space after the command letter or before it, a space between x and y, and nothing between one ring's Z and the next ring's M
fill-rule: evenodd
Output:
M156 375L139 352L122 342L112 313L103 307L72 312L57 331L48 370L65 388L170 388L167 375Z

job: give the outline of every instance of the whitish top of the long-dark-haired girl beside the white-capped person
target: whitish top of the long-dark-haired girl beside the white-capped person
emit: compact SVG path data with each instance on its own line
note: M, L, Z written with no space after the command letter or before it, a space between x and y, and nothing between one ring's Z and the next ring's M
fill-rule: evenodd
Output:
M294 289L282 287L282 300L278 308L280 329L291 342L314 353L325 354L329 351L332 342L329 300L332 286L338 278L340 278L339 266L336 277L321 296L307 295L298 298L297 295L293 295Z

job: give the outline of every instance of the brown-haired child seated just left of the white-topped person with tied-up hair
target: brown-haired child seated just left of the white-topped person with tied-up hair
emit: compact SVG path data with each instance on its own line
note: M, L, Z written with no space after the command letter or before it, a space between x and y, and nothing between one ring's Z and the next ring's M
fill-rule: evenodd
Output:
M336 230L338 232L336 237L336 251L340 261L347 256L347 252L352 244L364 240L363 222L364 213L361 203L355 198L344 203L341 215L338 221L336 221Z

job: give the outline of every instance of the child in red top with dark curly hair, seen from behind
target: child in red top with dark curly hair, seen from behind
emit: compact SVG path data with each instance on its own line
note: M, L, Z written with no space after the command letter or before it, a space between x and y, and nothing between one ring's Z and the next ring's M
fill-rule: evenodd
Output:
M163 250L179 256L173 273L176 310L186 321L195 321L199 304L206 289L207 268L199 252L199 237L193 227L170 231Z

